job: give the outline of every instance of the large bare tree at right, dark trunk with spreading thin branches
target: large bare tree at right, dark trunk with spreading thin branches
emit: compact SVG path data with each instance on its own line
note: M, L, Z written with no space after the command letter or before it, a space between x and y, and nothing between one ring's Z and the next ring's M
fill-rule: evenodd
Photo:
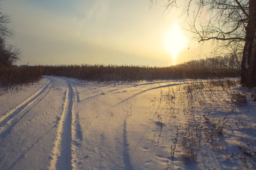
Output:
M156 0L150 0L150 7ZM166 10L183 8L192 38L212 40L224 53L243 54L241 84L256 86L256 0L166 0ZM182 6L181 6L182 5ZM218 51L217 50L217 51ZM215 51L216 52L216 51ZM218 55L218 54L217 54Z

